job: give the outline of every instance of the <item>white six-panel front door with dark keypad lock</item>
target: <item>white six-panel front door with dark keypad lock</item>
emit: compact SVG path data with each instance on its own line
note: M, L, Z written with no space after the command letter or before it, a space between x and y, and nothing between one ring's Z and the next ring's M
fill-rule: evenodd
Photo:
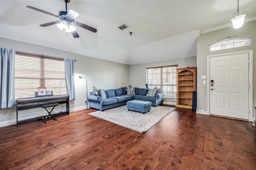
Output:
M249 54L210 57L210 115L249 119Z

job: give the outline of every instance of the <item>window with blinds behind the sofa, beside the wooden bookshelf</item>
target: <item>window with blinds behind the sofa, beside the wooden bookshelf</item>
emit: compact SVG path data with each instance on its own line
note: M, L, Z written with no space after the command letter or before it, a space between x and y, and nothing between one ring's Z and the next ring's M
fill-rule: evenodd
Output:
M164 98L176 99L176 68L178 65L147 68L148 88L162 89Z

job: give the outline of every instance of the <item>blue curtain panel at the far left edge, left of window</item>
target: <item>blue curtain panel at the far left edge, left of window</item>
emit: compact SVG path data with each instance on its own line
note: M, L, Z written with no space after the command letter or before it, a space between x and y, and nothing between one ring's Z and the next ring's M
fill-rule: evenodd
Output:
M15 105L15 50L2 47L0 49L0 109L4 109Z

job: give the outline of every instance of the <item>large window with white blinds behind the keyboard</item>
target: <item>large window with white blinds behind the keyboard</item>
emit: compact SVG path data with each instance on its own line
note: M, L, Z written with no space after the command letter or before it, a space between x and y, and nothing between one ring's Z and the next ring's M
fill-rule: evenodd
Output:
M64 59L16 52L15 98L34 97L37 87L46 87L54 95L65 95Z

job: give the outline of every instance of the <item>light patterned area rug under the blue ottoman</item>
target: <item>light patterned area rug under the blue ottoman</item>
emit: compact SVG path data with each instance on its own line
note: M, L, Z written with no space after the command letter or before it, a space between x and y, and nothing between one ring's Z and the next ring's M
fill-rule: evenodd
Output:
M173 107L157 106L151 107L150 112L143 114L141 112L128 111L126 105L124 105L88 114L142 133L148 131L175 109Z

